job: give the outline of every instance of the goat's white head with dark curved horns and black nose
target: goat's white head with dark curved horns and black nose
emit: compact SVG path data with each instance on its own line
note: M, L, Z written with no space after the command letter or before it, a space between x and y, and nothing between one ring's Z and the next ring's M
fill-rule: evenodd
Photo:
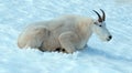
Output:
M112 35L106 28L106 14L102 9L100 9L100 11L102 12L102 17L94 10L94 12L96 12L98 15L98 20L94 22L92 31L97 33L102 41L110 41L112 39Z

